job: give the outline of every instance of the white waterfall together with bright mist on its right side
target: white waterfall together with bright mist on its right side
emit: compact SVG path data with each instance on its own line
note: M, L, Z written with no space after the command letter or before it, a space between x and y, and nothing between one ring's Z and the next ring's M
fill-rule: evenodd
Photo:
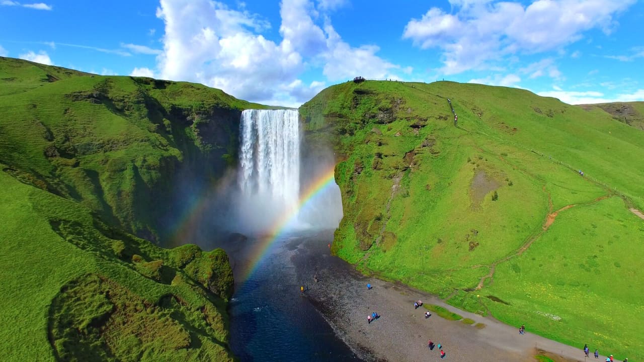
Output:
M335 166L328 148L303 150L297 110L245 110L240 122L237 216L242 233L335 228L342 218L339 187L328 185L302 203L304 190Z

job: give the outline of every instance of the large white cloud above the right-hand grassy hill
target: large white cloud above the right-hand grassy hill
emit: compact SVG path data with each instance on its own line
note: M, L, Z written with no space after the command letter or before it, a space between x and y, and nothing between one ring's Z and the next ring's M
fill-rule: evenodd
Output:
M430 8L405 26L404 39L423 49L440 48L445 74L485 68L515 53L560 49L600 28L610 33L614 15L636 0L536 0L518 2L451 0L448 14Z

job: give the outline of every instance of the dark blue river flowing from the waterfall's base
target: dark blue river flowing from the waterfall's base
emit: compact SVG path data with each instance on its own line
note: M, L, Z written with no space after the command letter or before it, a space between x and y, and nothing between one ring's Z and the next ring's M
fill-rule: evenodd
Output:
M247 248L224 246L234 265L235 292L230 304L231 348L241 361L362 361L336 336L300 287L315 288L321 256L328 257L332 231L285 234L252 267ZM333 257L340 265L350 265ZM254 262L254 261L252 261Z

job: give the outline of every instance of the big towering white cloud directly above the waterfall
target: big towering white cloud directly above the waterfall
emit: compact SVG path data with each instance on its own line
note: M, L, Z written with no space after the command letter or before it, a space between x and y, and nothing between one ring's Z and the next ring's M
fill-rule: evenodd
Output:
M193 81L235 97L298 106L325 86L306 81L321 70L327 81L395 77L403 70L377 55L375 44L352 46L332 26L330 12L343 1L283 0L279 37L270 24L239 3L161 0L156 16L165 24L163 50L153 73L162 79ZM274 32L272 32L274 33Z

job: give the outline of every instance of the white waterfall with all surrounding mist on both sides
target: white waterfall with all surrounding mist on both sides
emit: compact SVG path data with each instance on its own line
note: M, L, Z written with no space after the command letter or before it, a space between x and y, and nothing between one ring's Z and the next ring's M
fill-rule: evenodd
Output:
M334 166L328 144L303 137L297 110L245 110L240 118L236 169L229 169L216 187L200 193L193 191L204 186L195 185L194 178L185 175L186 185L180 189L186 192L180 195L180 205L186 214L193 214L171 243L204 247L214 243L229 249L223 244L236 233L258 236L276 227L335 229L343 212L340 190L333 180L316 189L307 202L301 199Z

